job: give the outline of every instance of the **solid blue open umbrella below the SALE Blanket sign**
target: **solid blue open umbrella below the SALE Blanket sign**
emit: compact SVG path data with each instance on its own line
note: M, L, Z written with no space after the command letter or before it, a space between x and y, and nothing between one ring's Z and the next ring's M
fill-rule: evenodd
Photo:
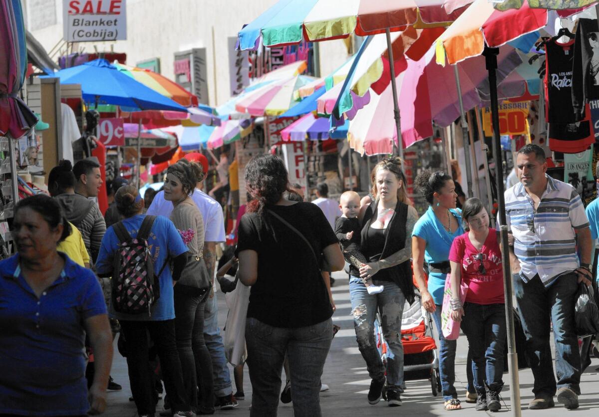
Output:
M187 111L173 100L123 74L105 59L96 59L83 65L62 69L54 75L60 84L81 84L83 99L99 104L114 104L140 110Z

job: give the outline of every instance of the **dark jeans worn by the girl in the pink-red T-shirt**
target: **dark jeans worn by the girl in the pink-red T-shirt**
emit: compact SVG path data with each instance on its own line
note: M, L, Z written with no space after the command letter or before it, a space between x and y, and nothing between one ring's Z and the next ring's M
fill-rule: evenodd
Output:
M470 345L474 387L477 392L484 392L486 383L489 389L501 392L506 345L506 306L464 303L464 313L462 330ZM482 370L485 372L480 372Z

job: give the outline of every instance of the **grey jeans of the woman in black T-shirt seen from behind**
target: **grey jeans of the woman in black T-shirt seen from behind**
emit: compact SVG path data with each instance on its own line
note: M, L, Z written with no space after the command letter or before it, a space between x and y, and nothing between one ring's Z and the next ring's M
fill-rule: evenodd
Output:
M252 381L250 417L276 417L285 352L295 417L320 417L320 377L333 337L332 319L307 327L273 327L246 320L247 366Z

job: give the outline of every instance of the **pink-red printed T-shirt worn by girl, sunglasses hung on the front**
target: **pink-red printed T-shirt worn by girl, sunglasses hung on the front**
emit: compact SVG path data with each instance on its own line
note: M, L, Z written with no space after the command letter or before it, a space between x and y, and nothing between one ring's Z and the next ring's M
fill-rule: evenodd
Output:
M449 260L461 266L462 281L468 284L466 302L504 303L503 266L495 229L489 229L480 251L470 242L468 232L453 239Z

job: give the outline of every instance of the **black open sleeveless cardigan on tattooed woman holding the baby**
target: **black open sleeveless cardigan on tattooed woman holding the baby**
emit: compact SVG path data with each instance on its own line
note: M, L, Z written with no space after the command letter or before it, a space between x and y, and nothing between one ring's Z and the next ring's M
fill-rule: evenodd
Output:
M377 219L379 200L376 200L368 206L362 220L361 246L366 246L368 239L368 228L371 223ZM385 234L385 246L381 254L381 259L385 259L395 252L401 251L406 247L406 221L408 215L408 205L400 201L395 206L395 212L391 217L387 233ZM410 304L414 302L414 284L412 282L412 261L407 260L396 266L385 269L391 275L395 284L400 287L401 292ZM376 278L376 275L375 275Z

